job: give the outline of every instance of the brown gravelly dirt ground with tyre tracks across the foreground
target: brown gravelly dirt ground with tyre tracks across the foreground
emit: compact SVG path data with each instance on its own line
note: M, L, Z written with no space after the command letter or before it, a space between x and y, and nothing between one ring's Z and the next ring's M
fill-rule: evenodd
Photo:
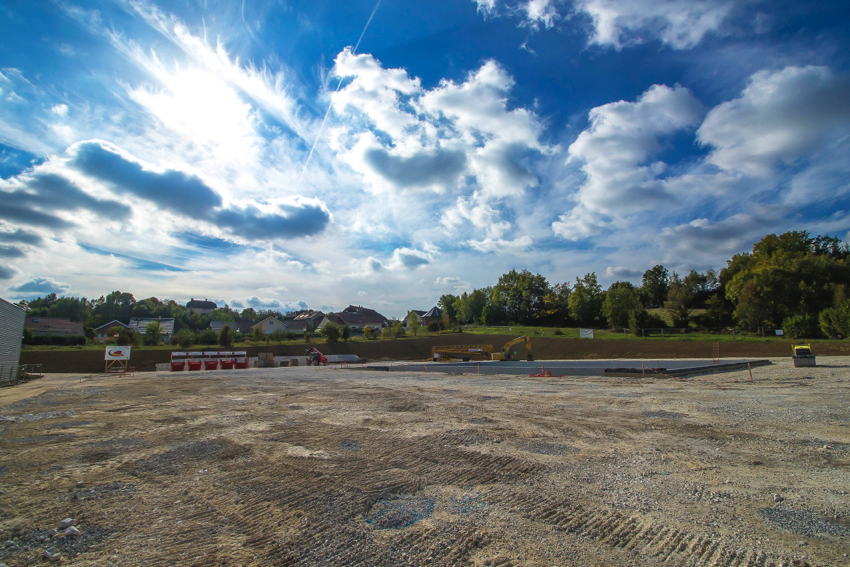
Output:
M48 375L0 390L0 563L850 565L850 361L818 362Z

